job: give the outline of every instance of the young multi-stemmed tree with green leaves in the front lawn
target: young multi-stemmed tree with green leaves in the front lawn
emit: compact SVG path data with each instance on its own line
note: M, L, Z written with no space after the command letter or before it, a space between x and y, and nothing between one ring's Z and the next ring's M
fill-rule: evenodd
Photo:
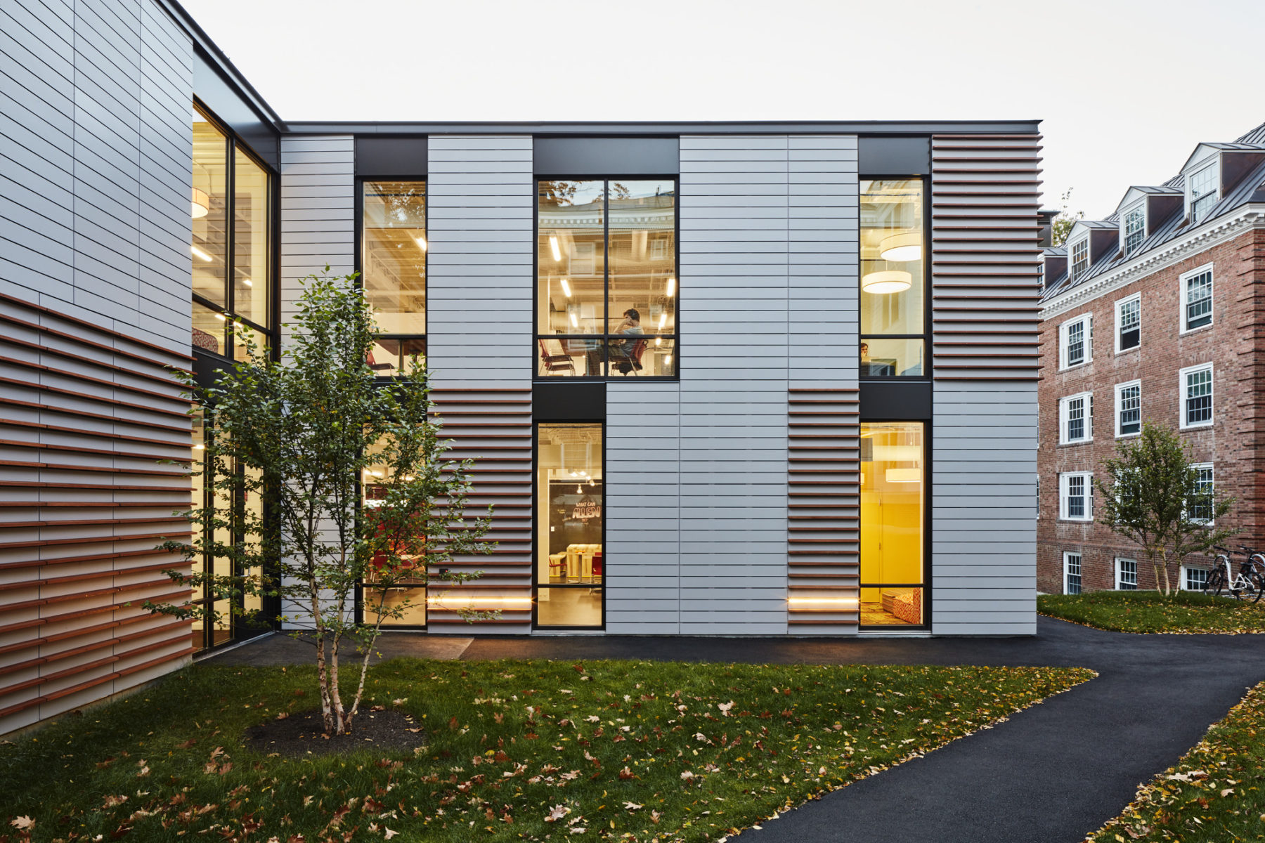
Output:
M194 473L214 495L211 506L188 513L197 527L192 542L164 547L188 561L210 555L225 564L215 566L220 573L194 565L192 576L168 571L215 600L147 607L215 623L240 614L248 597L280 598L283 613L311 624L296 637L310 636L315 646L321 713L334 734L352 727L382 623L406 617L415 608L410 595L425 593L400 586L479 576L453 570L453 557L491 552L483 537L492 511L466 517L473 461L445 456L450 445L440 439L423 365L414 358L379 380L368 364L377 327L357 276L328 272L304 281L280 361L237 326L247 360L206 388L185 375L210 431ZM250 495L262 507L245 507ZM430 599L441 595L431 590ZM468 621L496 616L455 610ZM348 641L362 651L349 705L339 686Z

